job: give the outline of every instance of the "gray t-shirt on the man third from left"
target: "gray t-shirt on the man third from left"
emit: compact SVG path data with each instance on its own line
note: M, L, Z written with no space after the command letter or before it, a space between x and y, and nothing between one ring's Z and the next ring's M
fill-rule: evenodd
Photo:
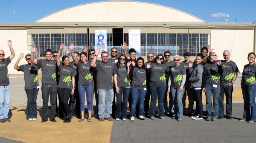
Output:
M39 59L38 66L42 70L42 84L57 84L56 82L56 61L47 59Z

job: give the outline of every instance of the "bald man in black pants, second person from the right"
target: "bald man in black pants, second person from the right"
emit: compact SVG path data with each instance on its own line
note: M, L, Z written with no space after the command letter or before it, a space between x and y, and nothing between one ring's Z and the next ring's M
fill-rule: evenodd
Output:
M233 83L236 80L238 67L236 63L230 60L230 51L224 50L224 60L221 61L223 73L221 74L221 91L219 95L219 116L218 119L222 119L224 115L224 94L226 95L226 118L232 119L232 93Z

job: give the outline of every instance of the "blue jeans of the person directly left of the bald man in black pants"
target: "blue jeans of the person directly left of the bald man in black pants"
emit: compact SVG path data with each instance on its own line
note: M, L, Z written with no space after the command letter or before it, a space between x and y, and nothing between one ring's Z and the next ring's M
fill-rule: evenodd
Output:
M205 85L206 96L206 112L207 118L218 118L218 96L220 94L220 85L213 87L213 85ZM213 112L212 112L212 100L213 100Z

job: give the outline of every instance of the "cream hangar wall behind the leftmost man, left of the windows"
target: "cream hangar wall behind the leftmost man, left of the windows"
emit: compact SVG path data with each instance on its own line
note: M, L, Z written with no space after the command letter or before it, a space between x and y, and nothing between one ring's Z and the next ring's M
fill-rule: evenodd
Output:
M8 40L12 40L12 47L15 51L15 57L12 59L12 62L8 65L8 73L19 73L13 67L20 56L20 53L28 53L27 46L27 31L26 30L0 30L0 49L4 50L5 58L11 55L10 49L7 45ZM20 60L19 65L26 64L25 58Z

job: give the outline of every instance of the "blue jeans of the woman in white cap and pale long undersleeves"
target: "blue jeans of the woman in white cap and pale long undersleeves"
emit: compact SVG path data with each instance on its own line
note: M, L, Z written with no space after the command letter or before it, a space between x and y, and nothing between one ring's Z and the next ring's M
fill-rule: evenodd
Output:
M182 91L179 91L180 87L171 88L172 98L174 101L174 113L177 118L182 118L182 97L184 94L184 88Z

